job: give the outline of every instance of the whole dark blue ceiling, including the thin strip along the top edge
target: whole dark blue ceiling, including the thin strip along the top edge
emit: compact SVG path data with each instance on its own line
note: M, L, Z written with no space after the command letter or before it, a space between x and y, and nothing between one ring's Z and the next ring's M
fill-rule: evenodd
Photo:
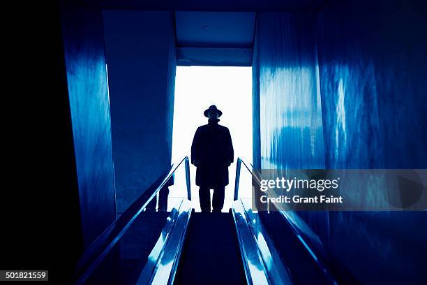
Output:
M82 0L103 10L174 12L178 65L251 66L258 11L320 10L328 0Z

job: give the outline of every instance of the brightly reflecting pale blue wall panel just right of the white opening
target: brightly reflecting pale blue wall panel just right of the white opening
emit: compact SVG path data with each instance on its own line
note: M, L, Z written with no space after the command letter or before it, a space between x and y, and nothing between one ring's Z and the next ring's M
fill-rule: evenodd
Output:
M263 168L324 168L313 13L259 13Z

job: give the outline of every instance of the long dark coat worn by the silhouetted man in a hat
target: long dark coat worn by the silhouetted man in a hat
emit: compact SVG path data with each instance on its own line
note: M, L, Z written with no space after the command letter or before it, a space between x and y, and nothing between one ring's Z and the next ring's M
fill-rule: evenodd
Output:
M228 166L233 162L233 144L230 131L218 124L219 119L199 126L191 145L191 163L197 161L197 186L225 186L228 184Z

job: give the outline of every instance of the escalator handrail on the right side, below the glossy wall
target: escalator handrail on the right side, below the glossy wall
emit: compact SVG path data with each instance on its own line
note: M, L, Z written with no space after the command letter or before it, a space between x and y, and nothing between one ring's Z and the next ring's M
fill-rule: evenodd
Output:
M234 200L237 200L239 198L239 182L240 182L240 169L241 169L241 163L244 164L245 168L249 171L250 175L252 176L252 181L256 182L258 184L258 187L261 187L261 177L257 176L257 174L254 173L253 165L252 163L246 163L244 159L238 157L237 158L237 165L236 165L236 182L234 184ZM250 168L249 168L249 166ZM261 175L261 174L259 174ZM306 242L306 238L304 238L306 235L303 231L301 231L300 228L298 228L290 219L287 217L287 215L284 213L285 211L279 211L283 219L287 222L287 224L290 225L290 228L292 229L292 232L297 235L297 238L301 242L301 244L304 246L304 248L308 251L310 256L313 257L315 263L322 269L324 272L324 275L327 276L327 278L331 281L331 284L338 284L334 278L334 275L331 274L331 270L327 267L327 265L322 262L322 259L318 258L318 256L315 254L315 251L310 247L308 242Z

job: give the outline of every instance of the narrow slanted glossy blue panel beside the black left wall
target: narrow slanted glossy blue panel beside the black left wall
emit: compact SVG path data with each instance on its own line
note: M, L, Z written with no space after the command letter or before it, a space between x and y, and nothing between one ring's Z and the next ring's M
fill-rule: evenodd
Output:
M80 216L87 246L116 217L103 20L100 11L71 1L61 2L61 12Z

